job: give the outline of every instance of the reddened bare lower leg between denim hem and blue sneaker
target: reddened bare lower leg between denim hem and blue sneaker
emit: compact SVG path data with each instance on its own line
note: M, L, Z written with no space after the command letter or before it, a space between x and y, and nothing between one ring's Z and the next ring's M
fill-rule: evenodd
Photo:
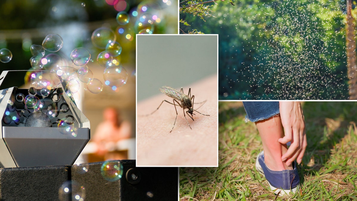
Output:
M287 151L286 144L280 144L279 138L284 137L284 130L280 116L275 115L265 120L255 122L264 149L264 162L273 171L293 170L292 165L287 166L281 161L281 156Z

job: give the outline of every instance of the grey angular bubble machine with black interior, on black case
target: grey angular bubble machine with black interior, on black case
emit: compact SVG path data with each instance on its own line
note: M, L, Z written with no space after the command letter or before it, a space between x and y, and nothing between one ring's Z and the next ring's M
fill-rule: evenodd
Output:
M89 141L89 120L64 83L51 90L7 85L18 76L19 71L0 75L0 167L72 165Z

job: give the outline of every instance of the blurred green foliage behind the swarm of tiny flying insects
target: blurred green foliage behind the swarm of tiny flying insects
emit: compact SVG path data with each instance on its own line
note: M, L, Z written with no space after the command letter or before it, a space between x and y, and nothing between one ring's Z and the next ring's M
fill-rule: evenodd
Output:
M182 32L219 34L219 99L346 99L344 2L241 0Z

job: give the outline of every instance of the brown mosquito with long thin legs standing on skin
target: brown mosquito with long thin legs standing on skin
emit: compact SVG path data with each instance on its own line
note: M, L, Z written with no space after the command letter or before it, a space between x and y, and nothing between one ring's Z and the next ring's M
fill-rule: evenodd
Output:
M187 95L185 93L183 93L183 88L182 87L181 87L180 91L178 91L178 90L176 90L176 89L174 89L172 87L168 87L168 86L161 87L159 90L160 90L160 92L162 92L162 93L166 94L167 96L173 98L172 99L172 103L167 101L167 100L162 100L162 102L160 104L160 106L161 106L162 103L164 103L164 101L165 101L165 102L170 103L171 105L175 106L176 118L175 118L174 126L172 126L171 131L174 129L175 123L176 123L176 119L177 119L177 114L178 113L177 113L176 106L180 106L182 108L183 116L185 117L188 126L191 128L190 123L188 123L186 115L185 115L185 109L188 109L186 111L186 114L192 119L192 121L195 121L195 119L193 119L193 116L192 116L192 115L196 115L196 114L193 114L193 111L196 111L195 109L193 109L193 102L195 100L195 95L191 96L191 87L188 89L188 94ZM156 112L160 108L160 106L157 107L157 109L154 112ZM148 114L147 116L153 114L154 112ZM196 111L196 112L198 112L198 111ZM198 113L200 113L200 112L198 112ZM200 114L202 114L202 113L200 113ZM202 114L202 115L210 116L208 114ZM171 133L171 131L170 131L170 133Z

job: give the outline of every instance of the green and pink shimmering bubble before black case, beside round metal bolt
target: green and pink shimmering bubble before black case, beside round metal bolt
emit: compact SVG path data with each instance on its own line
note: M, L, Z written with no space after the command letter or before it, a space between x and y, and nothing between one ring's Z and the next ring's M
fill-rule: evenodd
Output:
M107 181L117 181L123 176L123 165L120 161L105 161L100 168L100 173Z

